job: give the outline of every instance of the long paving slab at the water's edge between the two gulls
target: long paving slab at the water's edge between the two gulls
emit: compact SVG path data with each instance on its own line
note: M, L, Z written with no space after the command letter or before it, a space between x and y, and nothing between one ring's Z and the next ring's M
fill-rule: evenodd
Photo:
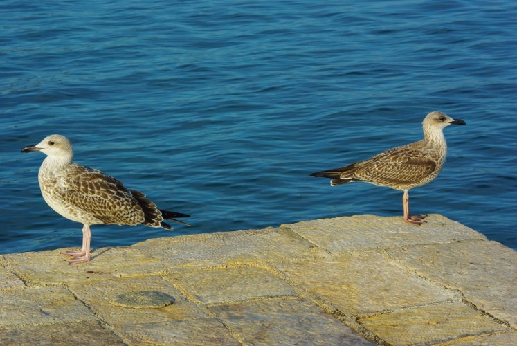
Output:
M202 268L311 255L314 246L301 237L289 237L278 229L266 228L149 239L131 247L163 261L169 268Z

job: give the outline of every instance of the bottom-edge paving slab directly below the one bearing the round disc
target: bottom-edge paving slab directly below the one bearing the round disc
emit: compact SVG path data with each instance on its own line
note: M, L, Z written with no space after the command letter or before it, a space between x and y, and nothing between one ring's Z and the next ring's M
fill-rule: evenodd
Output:
M241 345L217 318L116 325L128 345Z

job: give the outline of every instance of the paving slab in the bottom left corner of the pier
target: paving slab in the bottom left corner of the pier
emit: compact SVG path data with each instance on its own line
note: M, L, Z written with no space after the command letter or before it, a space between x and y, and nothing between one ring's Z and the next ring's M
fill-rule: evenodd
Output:
M1 345L125 345L98 321L81 320L51 325L0 327Z

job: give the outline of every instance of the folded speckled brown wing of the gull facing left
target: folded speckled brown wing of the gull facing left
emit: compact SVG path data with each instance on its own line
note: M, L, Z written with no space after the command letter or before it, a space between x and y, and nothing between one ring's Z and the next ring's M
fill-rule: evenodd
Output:
M60 198L96 217L103 224L137 225L144 212L131 192L117 179L100 170L72 164L64 175Z

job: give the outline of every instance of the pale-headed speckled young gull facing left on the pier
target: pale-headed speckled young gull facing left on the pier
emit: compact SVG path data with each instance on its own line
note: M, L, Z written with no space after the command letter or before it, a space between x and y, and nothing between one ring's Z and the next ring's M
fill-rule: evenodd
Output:
M38 173L43 199L58 214L83 224L81 251L66 251L63 254L73 257L69 264L90 260L90 225L144 224L172 230L163 219L185 224L174 217L190 216L160 210L142 192L128 190L120 181L100 170L72 163L72 145L64 136L53 134L37 145L24 147L21 152L46 154Z

